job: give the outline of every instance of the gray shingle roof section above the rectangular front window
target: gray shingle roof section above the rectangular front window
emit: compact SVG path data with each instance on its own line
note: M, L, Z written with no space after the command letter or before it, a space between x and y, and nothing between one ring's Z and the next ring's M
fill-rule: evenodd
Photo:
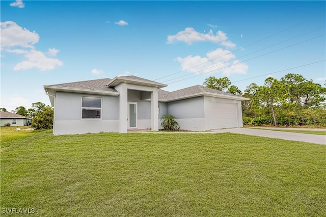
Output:
M83 82L48 85L48 87L63 87L63 88L73 88L73 89L94 90L94 91L118 92L114 88L110 88L106 86L106 84L108 84L110 80L111 80L110 78L84 80Z

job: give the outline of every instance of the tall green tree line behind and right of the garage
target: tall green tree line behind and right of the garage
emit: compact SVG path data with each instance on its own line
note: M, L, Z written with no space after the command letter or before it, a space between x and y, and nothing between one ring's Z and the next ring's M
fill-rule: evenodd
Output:
M326 127L326 88L300 74L289 73L279 80L267 77L264 85L252 83L244 93L227 77L208 77L203 85L249 98L242 101L244 125Z

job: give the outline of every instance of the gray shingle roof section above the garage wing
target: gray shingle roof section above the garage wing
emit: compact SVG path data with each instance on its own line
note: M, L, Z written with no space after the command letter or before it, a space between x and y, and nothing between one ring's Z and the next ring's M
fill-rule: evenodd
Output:
M159 100L173 100L173 99L178 99L186 96L190 96L193 94L200 94L200 93L215 93L215 94L223 94L223 95L228 95L228 96L235 96L230 93L226 93L223 91L207 88L201 85L195 85L192 87L184 88L181 90L176 90L173 92L168 92L164 90L158 90L158 99Z

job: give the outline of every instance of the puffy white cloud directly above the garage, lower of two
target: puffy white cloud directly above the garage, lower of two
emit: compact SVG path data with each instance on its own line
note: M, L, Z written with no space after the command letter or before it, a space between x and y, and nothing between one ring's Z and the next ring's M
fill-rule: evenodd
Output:
M246 74L248 65L235 59L235 56L229 50L217 48L206 53L206 57L187 56L185 58L176 58L181 64L182 70L192 73L215 73L222 72L225 75ZM201 64L201 65L200 65Z

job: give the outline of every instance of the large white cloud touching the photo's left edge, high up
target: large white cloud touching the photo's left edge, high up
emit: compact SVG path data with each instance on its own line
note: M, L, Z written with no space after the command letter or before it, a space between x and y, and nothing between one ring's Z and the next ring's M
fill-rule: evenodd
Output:
M13 21L1 22L1 48L21 46L34 48L33 44L39 41L40 37L35 31L30 32L21 28Z

